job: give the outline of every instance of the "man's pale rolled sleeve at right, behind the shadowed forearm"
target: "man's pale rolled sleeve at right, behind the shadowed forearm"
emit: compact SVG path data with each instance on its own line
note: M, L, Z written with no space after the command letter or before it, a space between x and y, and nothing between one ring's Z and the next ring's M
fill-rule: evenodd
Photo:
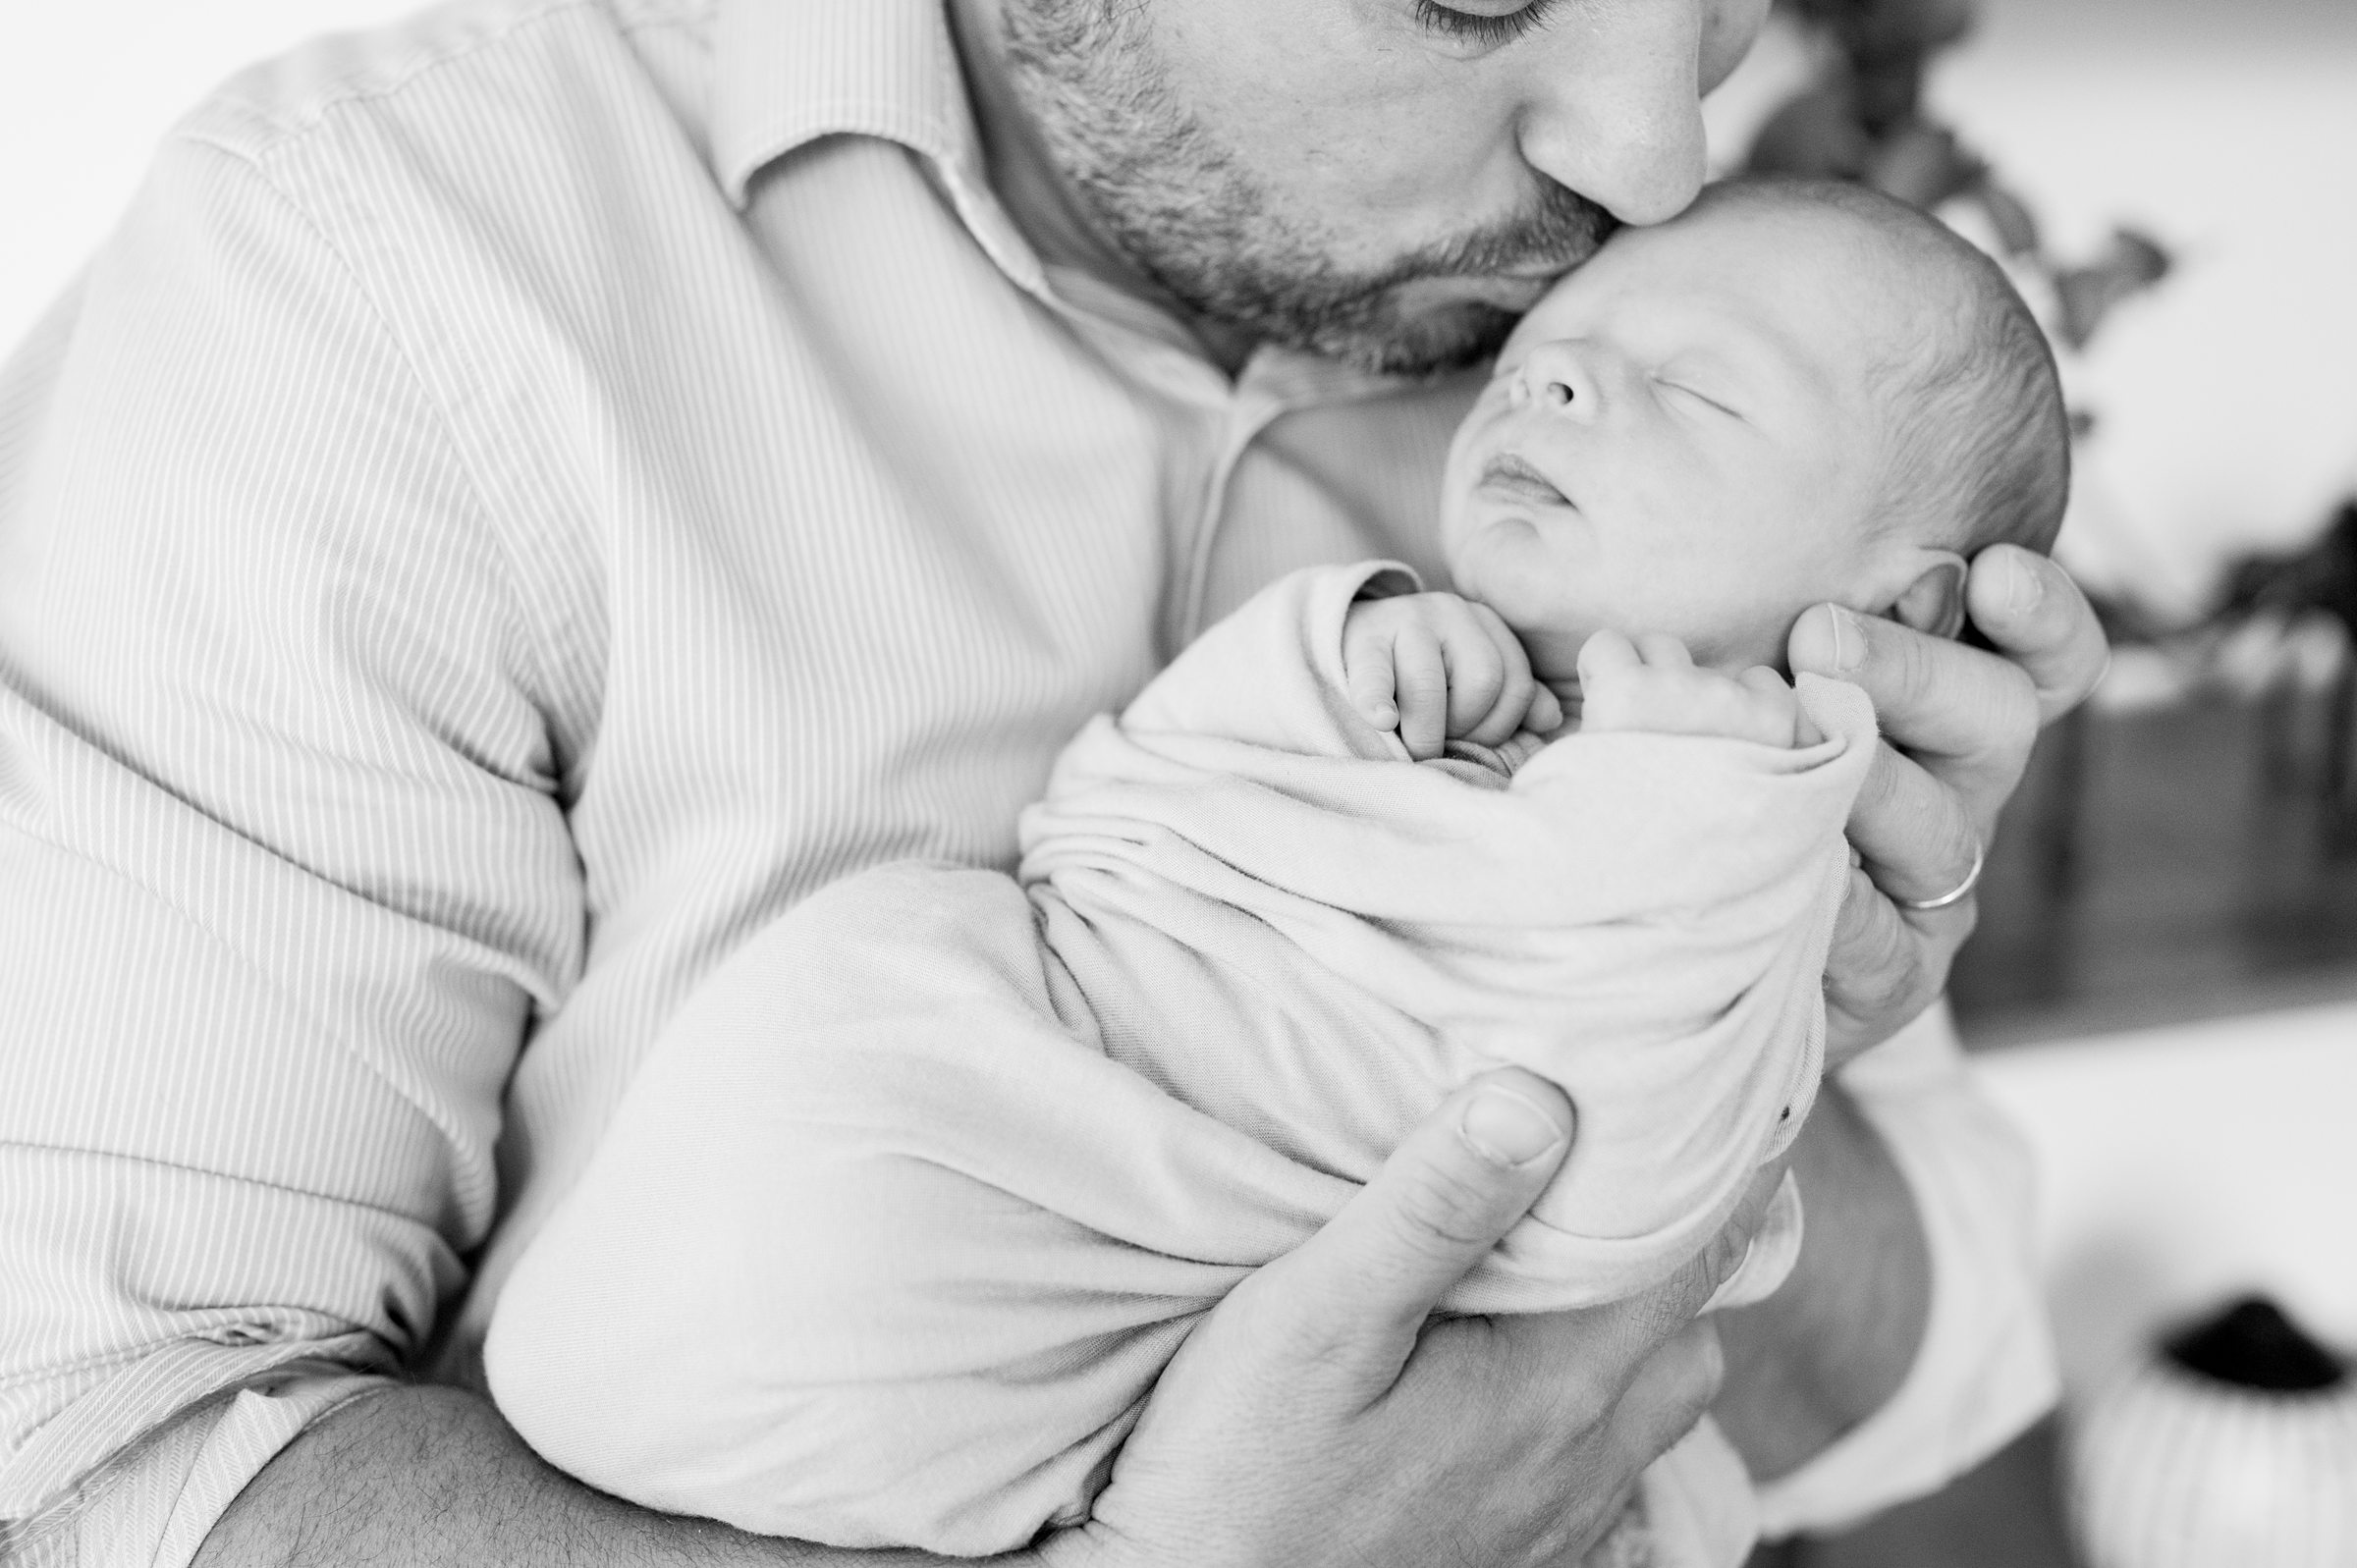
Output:
M1890 1403L1758 1488L1768 1537L1841 1528L1947 1485L2060 1389L2032 1252L2029 1148L1982 1096L1947 1004L1853 1061L1841 1082L1914 1191L1930 1318Z

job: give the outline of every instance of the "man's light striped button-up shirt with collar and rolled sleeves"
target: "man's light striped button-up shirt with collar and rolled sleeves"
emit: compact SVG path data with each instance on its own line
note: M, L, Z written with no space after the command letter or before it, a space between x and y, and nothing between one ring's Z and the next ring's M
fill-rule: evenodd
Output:
M462 0L224 85L0 373L0 1556L184 1563L471 1382L717 957L1009 865L1277 573L1431 571L1468 396L1042 264L938 0ZM1985 1132L1921 1139L1968 1266L1803 1514L2044 1398L2041 1339L1978 1427L1940 1370L2022 1332Z

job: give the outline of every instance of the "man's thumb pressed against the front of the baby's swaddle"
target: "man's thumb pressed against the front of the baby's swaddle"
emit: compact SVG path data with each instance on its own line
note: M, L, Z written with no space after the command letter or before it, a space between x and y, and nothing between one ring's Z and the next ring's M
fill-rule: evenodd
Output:
M1287 1294L1346 1318L1369 1353L1405 1361L1440 1297L1530 1210L1570 1148L1560 1089L1520 1068L1483 1073L1285 1259Z

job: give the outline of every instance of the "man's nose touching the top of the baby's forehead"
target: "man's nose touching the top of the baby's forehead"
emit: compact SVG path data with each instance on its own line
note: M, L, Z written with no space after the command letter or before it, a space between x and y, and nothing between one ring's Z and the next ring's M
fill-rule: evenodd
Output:
M1659 224L1702 189L1702 26L1714 0L1582 5L1541 33L1523 158L1624 224Z

